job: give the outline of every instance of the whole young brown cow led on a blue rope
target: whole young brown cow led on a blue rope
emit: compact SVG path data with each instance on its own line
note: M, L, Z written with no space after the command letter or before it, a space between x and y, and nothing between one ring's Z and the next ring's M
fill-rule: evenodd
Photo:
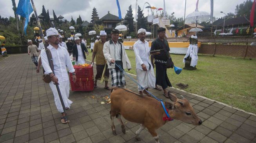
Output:
M164 102L164 105L169 109L169 115L171 118L180 120L185 123L193 125L201 125L202 120L198 118L194 109L185 98L178 99L176 95L168 92L168 96L173 101ZM136 131L136 140L140 140L140 132L147 128L150 134L155 139L156 143L159 143L159 137L156 133L156 129L162 127L166 122L163 117L166 114L160 101L155 100L147 96L141 96L137 93L124 88L112 88L111 98L111 129L114 135L116 135L116 129L114 126L114 116L118 118L121 123L122 132L125 134L125 125L122 121L121 115L128 121L134 123L140 123L140 129Z

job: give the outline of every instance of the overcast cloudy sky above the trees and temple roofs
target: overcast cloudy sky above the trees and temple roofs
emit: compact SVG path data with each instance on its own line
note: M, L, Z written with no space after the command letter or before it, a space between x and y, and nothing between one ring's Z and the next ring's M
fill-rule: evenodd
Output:
M18 6L18 1L19 0L15 0L16 7ZM197 0L187 0L186 16L196 9L196 1ZM211 0L199 0L198 10L211 13L210 1ZM216 18L220 18L224 15L220 13L220 11L223 11L224 13L234 13L236 5L242 3L245 0L213 1L213 16L215 16ZM163 8L163 0L138 0L138 5L141 8L143 8L145 2L148 2L151 5L151 7L154 6L157 8ZM136 0L119 0L122 18L125 17L129 5L132 5L134 14L133 16L135 16L135 3ZM50 17L53 17L54 10L57 16L62 15L68 21L71 20L71 16L73 16L73 19L76 21L76 18L78 18L79 14L82 17L82 20L91 21L93 7L97 9L100 18L107 14L107 11L110 11L111 14L118 16L116 0L34 0L34 4L36 6L38 15L42 13L42 5L44 5L46 11L47 9L49 9ZM0 0L0 5L0 15L2 17L14 17L11 0ZM145 7L146 6L148 6L148 4L145 4ZM174 16L176 18L183 17L185 9L185 0L165 0L165 9L168 14L174 12ZM147 9L144 8L143 13L144 16L147 16Z

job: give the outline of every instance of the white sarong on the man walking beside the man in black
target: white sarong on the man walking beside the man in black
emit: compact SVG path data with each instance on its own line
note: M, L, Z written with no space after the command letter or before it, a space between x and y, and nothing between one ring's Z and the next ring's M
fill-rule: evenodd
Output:
M155 84L156 84L156 77L154 75L154 70L151 67L150 70L147 71L143 71L140 69L136 69L136 73L137 73L137 80L138 83L144 88L155 88ZM142 91L142 89L140 88L140 86L138 86L138 91Z

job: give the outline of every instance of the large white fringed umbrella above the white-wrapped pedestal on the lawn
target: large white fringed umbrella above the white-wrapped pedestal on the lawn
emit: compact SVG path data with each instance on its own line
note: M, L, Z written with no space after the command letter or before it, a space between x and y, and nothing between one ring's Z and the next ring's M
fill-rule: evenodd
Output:
M193 13L190 13L185 18L185 23L196 23L196 29L197 29L197 23L202 23L210 18L210 14L205 11L198 11L198 2L196 3L196 10ZM196 31L197 32L197 31Z

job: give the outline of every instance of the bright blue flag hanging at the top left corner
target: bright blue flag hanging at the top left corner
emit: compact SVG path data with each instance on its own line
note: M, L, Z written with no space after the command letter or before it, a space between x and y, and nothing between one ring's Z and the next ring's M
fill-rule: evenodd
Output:
M33 8L30 3L30 0L20 0L19 1L18 7L16 10L16 14L26 18L25 25L24 25L25 35L27 34L26 30L27 30L27 23L29 23L29 15L32 13L32 11L33 11Z

